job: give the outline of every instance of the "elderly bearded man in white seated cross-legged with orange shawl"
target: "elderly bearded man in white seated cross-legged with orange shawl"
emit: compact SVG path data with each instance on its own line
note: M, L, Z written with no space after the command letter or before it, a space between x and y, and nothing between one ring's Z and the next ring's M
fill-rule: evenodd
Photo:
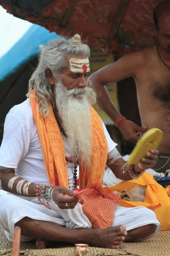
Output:
M112 200L117 195L104 193L102 204L109 207L100 207L101 215L107 212L112 219L102 224L95 211L89 213L92 205L84 207L81 197L86 192L73 196L78 164L80 189L93 187L95 193L96 186L102 187L106 163L119 179L132 180L153 168L158 151L148 152L136 165L122 159L91 107L96 94L87 84L90 49L79 35L40 48L28 99L6 116L0 180L8 193L0 197L0 227L13 241L14 227L19 226L21 241L37 239L40 248L45 239L118 248L122 241L155 236L161 225L150 209L121 207Z

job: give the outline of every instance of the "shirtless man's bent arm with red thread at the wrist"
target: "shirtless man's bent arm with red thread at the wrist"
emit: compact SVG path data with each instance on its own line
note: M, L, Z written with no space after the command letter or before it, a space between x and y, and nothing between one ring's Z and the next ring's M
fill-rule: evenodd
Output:
M120 81L130 76L136 76L138 70L142 68L142 65L142 51L128 53L115 63L103 67L89 77L89 80L91 80L94 84L94 88L98 96L97 102L99 105L101 105L102 109L108 114L108 116L110 116L115 124L119 122L122 115L113 105L105 84ZM133 141L134 143L136 143L138 140L136 132L146 131L146 128L141 128L127 119L123 120L123 126L119 125L119 129L126 140Z

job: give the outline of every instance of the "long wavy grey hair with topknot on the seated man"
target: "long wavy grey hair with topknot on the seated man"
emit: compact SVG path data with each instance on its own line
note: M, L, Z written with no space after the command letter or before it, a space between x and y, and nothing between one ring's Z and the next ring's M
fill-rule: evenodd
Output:
M53 85L49 84L45 75L45 70L50 69L55 78L59 77L62 68L69 67L68 59L71 56L83 56L89 58L90 49L87 44L82 44L79 35L72 38L57 38L48 43L46 47L40 46L39 63L29 80L27 97L35 89L40 106L40 113L48 116L48 102L53 102Z

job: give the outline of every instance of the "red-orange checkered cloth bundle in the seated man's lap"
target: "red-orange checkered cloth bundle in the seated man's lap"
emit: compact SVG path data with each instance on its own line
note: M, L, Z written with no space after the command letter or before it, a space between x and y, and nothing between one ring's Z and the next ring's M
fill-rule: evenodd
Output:
M82 193L79 203L92 228L99 229L111 227L119 199L120 195L105 193L102 184L96 183Z

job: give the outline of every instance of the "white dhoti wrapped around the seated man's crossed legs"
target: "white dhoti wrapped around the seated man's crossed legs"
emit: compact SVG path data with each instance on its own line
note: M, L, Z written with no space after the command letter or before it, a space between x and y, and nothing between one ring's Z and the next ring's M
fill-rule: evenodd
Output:
M24 198L24 199L23 199ZM47 208L39 203L37 198L26 198L12 194L0 197L0 227L3 228L9 241L13 241L14 225L24 217L41 221L50 221L68 229L91 228L91 223L82 211L82 205L74 209L59 209L54 203ZM145 207L125 208L115 207L115 217L112 226L125 225L127 231L147 224L155 224L155 232L147 238L159 233L161 224L155 213ZM21 241L31 241L34 237L21 236ZM141 240L144 240L141 239Z

